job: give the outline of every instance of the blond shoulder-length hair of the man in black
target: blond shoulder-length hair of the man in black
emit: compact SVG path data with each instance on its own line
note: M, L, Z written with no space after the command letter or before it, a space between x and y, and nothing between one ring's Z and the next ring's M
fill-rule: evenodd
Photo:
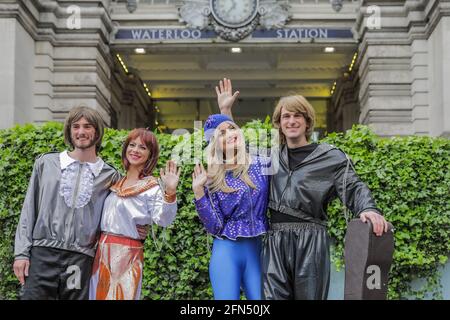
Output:
M272 116L273 126L278 129L280 133L280 143L286 143L286 137L281 130L281 110L284 107L286 111L301 113L306 120L306 140L309 141L311 139L311 135L314 131L314 125L316 122L316 112L314 111L313 106L306 100L304 96L301 95L290 95L286 97L282 97L280 101L278 101L277 106L275 107L275 111Z

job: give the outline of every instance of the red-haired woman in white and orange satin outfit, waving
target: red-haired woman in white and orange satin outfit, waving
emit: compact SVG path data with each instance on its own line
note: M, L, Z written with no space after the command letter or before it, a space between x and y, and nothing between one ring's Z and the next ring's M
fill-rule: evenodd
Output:
M180 172L169 160L152 176L159 157L155 135L132 130L122 148L126 176L111 187L101 221L101 236L92 270L91 300L140 299L144 245L138 225L166 227L177 213L176 188Z

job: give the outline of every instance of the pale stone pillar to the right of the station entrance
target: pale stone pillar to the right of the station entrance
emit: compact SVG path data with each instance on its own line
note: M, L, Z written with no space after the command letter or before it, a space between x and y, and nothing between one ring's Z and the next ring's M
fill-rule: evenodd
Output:
M381 28L370 28L370 6ZM380 135L450 134L450 1L365 0L360 37L360 122Z

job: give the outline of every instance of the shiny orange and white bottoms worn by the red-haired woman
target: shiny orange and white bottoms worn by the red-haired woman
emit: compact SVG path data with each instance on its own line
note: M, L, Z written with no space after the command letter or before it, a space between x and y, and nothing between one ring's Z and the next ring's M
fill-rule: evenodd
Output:
M139 300L144 246L136 239L102 233L90 280L90 300Z

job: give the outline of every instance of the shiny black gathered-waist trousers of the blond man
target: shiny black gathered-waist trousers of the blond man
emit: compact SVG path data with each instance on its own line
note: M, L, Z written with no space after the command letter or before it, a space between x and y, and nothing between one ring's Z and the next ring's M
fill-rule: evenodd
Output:
M329 237L316 223L273 223L263 239L265 300L326 300L330 286Z

